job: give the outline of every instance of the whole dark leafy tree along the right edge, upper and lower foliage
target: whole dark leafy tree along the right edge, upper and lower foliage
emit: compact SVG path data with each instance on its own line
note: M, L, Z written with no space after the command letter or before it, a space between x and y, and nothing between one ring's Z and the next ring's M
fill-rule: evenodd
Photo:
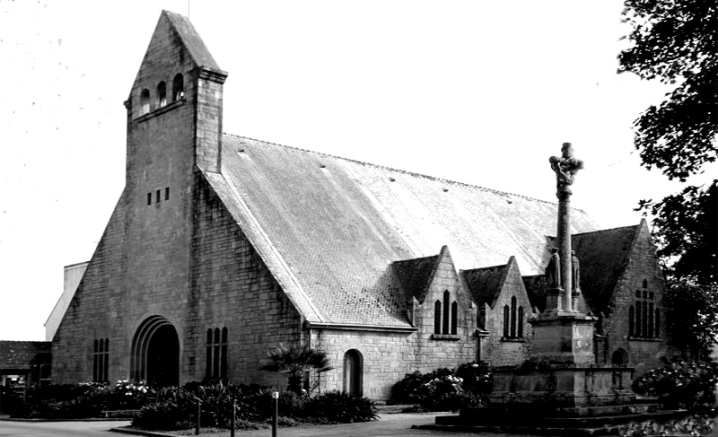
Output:
M714 0L626 0L631 42L618 56L619 73L675 85L659 106L634 122L642 164L669 179L686 179L718 157L718 4ZM659 202L642 200L669 275L666 308L678 345L705 349L718 336L718 201L716 184L687 187Z

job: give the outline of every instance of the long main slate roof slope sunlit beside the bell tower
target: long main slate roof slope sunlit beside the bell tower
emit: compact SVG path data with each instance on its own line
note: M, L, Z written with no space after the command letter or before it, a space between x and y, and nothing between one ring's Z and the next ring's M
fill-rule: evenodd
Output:
M407 326L401 284L416 284L391 263L447 245L458 269L515 256L536 274L556 232L554 203L234 135L223 135L222 173L204 174L316 322ZM598 228L573 211L572 232ZM421 263L405 267L426 275Z

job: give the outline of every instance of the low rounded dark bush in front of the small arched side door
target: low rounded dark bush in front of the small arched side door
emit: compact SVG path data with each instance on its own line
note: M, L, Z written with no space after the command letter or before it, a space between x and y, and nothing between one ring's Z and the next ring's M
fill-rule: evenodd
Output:
M371 399L342 391L328 391L310 398L302 415L315 423L351 424L376 420L376 406Z

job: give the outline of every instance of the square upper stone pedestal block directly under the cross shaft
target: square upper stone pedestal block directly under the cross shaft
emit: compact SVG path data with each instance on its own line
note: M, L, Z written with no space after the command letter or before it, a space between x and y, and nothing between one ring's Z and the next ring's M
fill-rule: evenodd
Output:
M593 324L596 318L579 312L544 311L529 322L533 325L530 362L540 364L596 363L593 354Z

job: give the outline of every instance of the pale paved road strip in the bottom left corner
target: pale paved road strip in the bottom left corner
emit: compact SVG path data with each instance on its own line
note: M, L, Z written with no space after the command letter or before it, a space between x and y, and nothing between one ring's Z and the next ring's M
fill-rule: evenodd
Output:
M109 428L129 422L0 422L0 437L121 437Z

